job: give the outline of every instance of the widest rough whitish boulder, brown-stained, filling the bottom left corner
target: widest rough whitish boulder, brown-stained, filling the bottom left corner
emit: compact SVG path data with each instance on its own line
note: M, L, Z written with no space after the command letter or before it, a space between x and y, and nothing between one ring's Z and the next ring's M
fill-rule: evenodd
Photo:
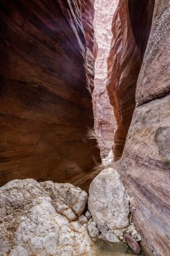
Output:
M7 183L0 188L0 255L73 256L90 252L91 238L75 221L86 201L87 193L70 184L33 179Z

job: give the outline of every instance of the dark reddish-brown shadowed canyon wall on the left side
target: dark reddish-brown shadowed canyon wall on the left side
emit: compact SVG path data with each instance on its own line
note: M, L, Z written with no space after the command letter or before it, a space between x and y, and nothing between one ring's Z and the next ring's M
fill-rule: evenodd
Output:
M0 185L33 177L88 187L100 156L81 2L1 1L0 13Z

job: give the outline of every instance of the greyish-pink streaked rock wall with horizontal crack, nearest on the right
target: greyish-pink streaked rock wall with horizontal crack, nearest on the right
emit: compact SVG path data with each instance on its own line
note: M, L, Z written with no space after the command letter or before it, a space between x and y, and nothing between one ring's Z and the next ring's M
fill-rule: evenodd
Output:
M121 161L122 181L129 195L136 197L134 223L147 255L170 251L169 28L169 1L156 1Z

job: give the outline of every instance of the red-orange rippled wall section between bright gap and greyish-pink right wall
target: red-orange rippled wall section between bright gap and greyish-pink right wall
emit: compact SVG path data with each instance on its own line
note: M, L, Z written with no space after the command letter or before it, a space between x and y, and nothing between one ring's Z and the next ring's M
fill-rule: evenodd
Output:
M122 156L134 112L136 82L151 30L154 3L120 0L112 21L108 94L118 126L114 134L115 160Z

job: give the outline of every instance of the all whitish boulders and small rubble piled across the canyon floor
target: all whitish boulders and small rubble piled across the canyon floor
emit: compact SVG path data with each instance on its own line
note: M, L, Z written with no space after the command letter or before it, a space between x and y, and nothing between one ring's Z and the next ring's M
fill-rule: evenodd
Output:
M129 218L135 199L129 199L113 168L91 183L89 210L87 193L69 183L13 180L0 193L0 255L88 255L97 239L140 241Z

